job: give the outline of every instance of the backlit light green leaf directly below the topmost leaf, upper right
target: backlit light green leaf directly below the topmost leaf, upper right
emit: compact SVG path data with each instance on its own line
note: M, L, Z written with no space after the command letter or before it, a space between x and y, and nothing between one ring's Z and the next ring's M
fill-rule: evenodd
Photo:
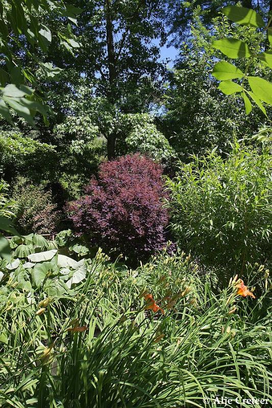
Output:
M237 38L222 38L213 41L212 46L229 58L248 58L251 56L248 44Z

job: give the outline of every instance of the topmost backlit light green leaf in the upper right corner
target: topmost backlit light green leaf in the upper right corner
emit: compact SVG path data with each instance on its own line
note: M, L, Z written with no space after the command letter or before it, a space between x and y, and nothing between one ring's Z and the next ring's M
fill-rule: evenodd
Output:
M224 7L222 12L231 21L238 22L241 25L250 25L251 27L265 27L265 22L263 21L260 14L252 9L246 7L229 6Z

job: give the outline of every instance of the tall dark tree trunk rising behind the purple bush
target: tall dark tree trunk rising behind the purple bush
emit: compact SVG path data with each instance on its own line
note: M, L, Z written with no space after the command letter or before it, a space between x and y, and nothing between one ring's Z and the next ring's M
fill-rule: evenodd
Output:
M108 70L109 70L109 101L114 104L114 85L116 80L116 61L114 52L114 41L113 41L113 23L111 15L111 0L105 1L106 10L106 35L107 35L107 54L108 54ZM115 158L115 133L111 133L107 140L107 155L108 160Z

